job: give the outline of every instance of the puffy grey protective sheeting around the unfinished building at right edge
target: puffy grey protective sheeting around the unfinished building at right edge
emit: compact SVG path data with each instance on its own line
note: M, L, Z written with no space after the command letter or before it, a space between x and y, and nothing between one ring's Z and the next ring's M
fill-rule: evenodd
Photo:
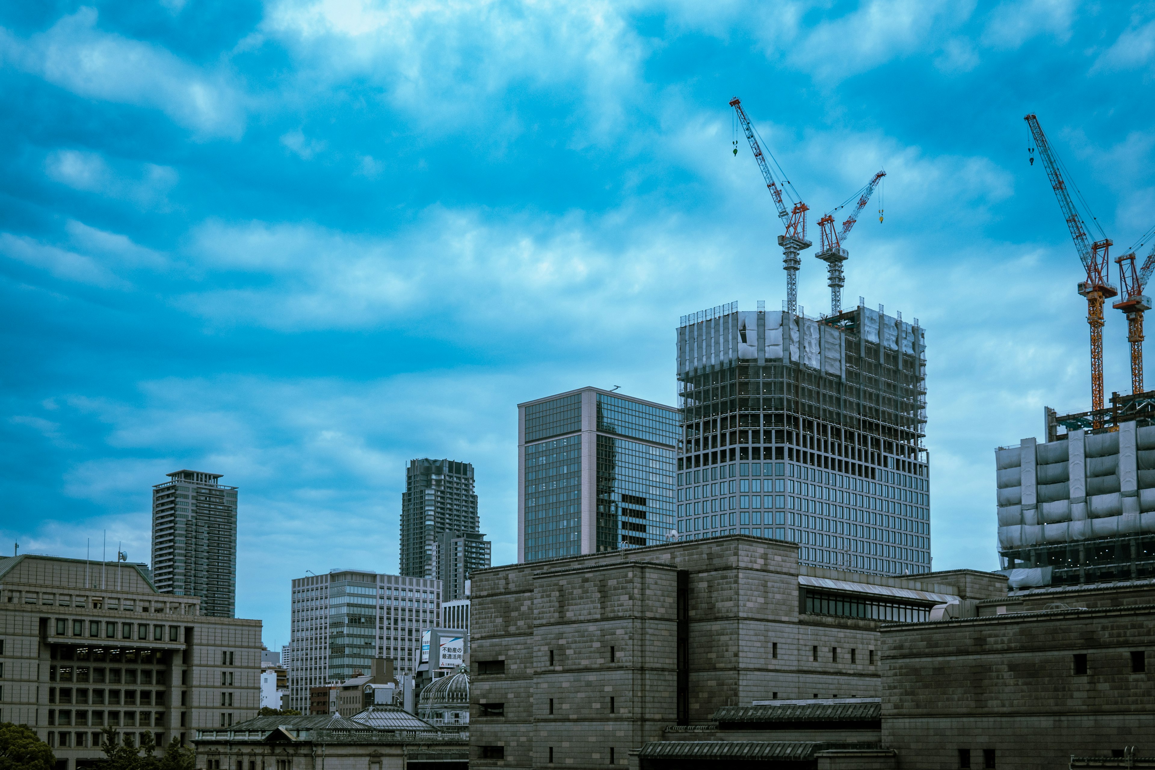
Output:
M996 450L1000 551L1155 532L1155 426Z

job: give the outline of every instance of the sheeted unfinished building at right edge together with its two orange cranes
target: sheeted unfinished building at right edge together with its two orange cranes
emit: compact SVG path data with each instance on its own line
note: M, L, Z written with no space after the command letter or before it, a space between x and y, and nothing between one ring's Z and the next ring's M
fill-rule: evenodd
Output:
M1090 409L1060 414L1044 408L1044 438L996 450L998 539L1012 586L1064 585L1155 577L1155 391L1143 389L1145 293L1155 248L1138 263L1148 231L1113 260L1113 241L1098 227L1070 172L1034 114L1024 118L1036 157L1059 203L1085 271L1076 291L1090 328ZM1091 239L1087 223L1100 238ZM1127 320L1131 393L1104 404L1104 305Z

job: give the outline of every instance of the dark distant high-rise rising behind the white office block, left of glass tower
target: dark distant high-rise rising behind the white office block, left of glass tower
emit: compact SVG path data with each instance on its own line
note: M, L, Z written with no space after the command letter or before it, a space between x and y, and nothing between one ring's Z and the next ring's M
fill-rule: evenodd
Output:
M401 574L435 577L433 546L446 531L478 532L474 466L452 459L412 459L401 493Z

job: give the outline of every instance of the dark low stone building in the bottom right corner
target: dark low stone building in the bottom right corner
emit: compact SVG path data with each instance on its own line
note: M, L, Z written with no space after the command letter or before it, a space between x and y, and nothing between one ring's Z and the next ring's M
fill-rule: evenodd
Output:
M881 628L881 740L899 767L1155 755L1155 581L1018 590L956 610Z

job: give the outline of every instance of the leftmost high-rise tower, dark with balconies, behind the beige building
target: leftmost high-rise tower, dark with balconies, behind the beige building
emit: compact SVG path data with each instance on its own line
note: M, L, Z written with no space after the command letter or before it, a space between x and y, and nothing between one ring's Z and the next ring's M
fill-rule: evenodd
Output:
M237 611L237 487L221 473L174 471L152 487L152 580L161 593L201 598L201 614Z

